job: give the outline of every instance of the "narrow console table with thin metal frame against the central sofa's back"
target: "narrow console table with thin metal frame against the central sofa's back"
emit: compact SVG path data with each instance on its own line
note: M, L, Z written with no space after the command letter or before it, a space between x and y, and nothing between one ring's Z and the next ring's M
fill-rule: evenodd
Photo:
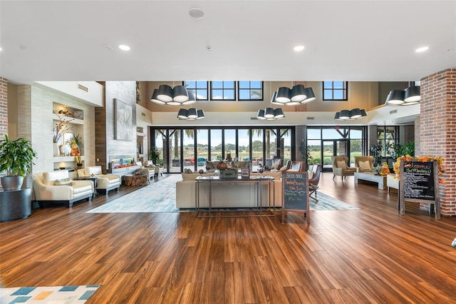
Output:
M266 193L263 185L266 186ZM204 204L206 206L201 206L203 196L204 201L207 202L207 205ZM227 180L220 179L218 176L195 178L195 211L198 218L216 216L213 213L214 208L217 208L217 211L220 211L220 208L227 211L248 208L249 211L259 211L259 213L243 216L274 216L274 198L274 178L271 176L245 179L239 177ZM205 215L201 215L202 212ZM225 216L217 213L217 217Z

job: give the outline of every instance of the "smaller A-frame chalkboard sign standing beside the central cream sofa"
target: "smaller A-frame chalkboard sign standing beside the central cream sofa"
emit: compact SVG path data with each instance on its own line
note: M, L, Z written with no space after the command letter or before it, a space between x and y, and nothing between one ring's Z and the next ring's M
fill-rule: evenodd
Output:
M282 223L285 211L304 211L309 225L309 180L306 171L282 172Z

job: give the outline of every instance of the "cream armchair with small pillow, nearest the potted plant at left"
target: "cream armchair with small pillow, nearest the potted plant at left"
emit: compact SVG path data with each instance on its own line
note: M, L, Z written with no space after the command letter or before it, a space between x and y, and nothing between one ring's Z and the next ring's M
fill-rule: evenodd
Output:
M93 196L92 181L69 181L68 185L63 180L69 179L68 170L59 170L33 174L33 195L41 208L45 203L65 203L67 208L76 201L86 198L89 201Z

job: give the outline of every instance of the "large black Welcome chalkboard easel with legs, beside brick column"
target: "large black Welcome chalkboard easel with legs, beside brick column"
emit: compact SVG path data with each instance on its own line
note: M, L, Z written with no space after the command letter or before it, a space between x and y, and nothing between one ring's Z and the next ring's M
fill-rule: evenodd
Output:
M399 211L405 214L405 201L435 204L435 218L440 219L439 176L437 161L400 161Z

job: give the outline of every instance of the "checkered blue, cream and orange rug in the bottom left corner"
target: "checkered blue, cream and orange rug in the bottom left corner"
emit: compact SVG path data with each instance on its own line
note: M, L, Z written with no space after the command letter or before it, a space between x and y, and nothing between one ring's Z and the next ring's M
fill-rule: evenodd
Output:
M0 288L0 303L86 303L100 285Z

